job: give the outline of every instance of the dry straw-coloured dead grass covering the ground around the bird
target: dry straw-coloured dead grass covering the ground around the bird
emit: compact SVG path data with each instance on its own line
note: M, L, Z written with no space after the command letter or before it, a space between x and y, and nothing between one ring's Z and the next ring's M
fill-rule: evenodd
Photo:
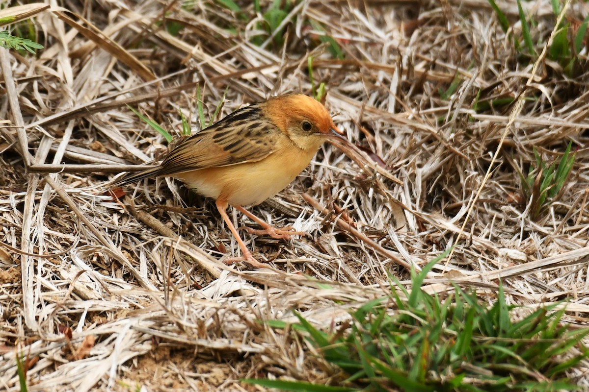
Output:
M18 10L34 15L45 45L37 56L0 48L0 119L10 120L0 122L0 388L19 388L17 353L29 357L31 391L327 381L305 342L257 320L295 321L298 310L337 324L382 294L388 274L407 279L403 266L452 245L430 290L444 292L451 276L492 297L500 278L512 303L566 299L568 320L587 323L588 74L565 78L542 55L522 65L487 1L303 1L283 48L250 43L256 25L214 1L58 3L68 12ZM517 30L515 2L498 4ZM550 1L524 5L547 40ZM588 11L575 2L567 15ZM345 60L297 23L305 18L325 26ZM184 28L172 35L163 19ZM243 232L266 270L219 261L239 247L211 200L180 183L141 183L120 202L105 193L113 172L166 149L125 104L173 132L181 109L197 129L197 86L207 119L224 91L223 115L277 93L310 94L309 55L336 124L401 185L325 146L254 209L312 237ZM479 91L514 102L477 113ZM534 147L551 162L569 140L578 150L565 189L532 218L518 170ZM586 373L571 376L588 386Z

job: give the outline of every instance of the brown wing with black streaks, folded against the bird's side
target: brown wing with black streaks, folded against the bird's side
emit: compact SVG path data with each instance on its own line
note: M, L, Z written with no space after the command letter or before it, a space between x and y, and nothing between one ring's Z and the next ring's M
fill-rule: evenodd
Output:
M263 116L259 105L231 113L193 136L179 140L161 163L157 176L256 162L276 149L284 136Z

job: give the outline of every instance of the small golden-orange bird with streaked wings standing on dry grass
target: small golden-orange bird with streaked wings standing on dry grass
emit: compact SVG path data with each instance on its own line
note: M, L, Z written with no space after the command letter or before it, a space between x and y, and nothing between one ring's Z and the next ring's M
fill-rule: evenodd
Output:
M291 227L277 229L253 215L244 206L256 206L289 185L310 163L329 139L344 139L329 111L316 99L287 94L253 103L227 115L219 122L172 142L158 166L128 173L115 182L128 185L151 177L174 177L200 195L216 200L221 217L241 248L241 257L252 266L254 259L227 215L232 206L268 234L289 239Z

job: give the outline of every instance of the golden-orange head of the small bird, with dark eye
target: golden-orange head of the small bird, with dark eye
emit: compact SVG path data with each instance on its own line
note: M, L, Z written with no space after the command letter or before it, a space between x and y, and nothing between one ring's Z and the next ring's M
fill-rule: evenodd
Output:
M302 94L270 98L266 115L299 148L317 149L336 130L329 112L317 100Z

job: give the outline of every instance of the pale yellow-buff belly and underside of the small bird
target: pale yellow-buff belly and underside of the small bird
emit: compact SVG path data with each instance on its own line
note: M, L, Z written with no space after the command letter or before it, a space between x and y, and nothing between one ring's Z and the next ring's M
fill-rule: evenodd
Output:
M258 162L211 167L176 175L203 196L251 206L276 195L309 165L315 151L273 153Z

